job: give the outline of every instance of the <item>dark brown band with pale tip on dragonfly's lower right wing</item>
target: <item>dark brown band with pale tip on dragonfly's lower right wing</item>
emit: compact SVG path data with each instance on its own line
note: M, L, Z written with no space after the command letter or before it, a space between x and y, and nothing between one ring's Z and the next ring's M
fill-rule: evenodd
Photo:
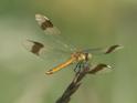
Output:
M104 70L105 68L110 68L110 66L107 65L107 64L101 63L101 64L97 64L97 65L96 65L93 70L91 70L88 73L95 74L95 73L97 73L97 72L99 72L99 71L102 71L102 70Z

